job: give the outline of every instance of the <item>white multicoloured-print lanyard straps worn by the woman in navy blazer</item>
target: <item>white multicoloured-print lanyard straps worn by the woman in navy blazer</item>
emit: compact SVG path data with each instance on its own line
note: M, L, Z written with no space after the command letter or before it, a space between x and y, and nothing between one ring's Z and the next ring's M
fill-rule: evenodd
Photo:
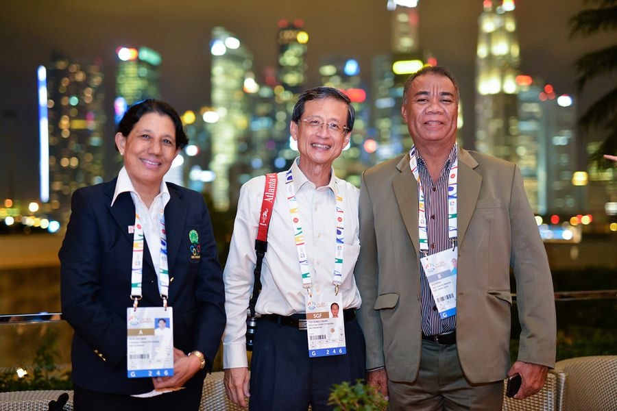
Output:
M169 267L167 266L167 234L165 234L165 212L159 209L160 228L160 255L158 264L158 290L163 300L163 307L167 309L167 295L169 291ZM137 301L141 300L141 283L143 277L143 227L139 214L135 212L135 228L133 233L133 260L131 266L131 299L133 307L137 309Z

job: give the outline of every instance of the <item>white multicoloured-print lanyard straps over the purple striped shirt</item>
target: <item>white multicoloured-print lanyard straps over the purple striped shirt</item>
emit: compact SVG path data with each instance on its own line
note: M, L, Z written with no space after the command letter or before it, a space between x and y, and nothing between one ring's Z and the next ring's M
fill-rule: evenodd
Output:
M455 145L458 150L458 145ZM418 181L418 238L420 241L420 251L424 254L428 253L428 228L426 225L426 208L424 206L424 189L420 181L420 173L418 173L418 154L416 153L415 145L409 150L409 167L413 177ZM448 238L452 243L457 238L457 180L459 173L459 158L455 157L454 163L450 167L448 173Z

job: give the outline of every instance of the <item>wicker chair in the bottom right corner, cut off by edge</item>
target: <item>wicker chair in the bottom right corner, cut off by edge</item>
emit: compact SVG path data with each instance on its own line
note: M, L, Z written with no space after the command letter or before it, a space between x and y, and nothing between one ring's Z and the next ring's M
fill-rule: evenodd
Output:
M617 410L617 356L569 358L555 371L566 373L564 410Z

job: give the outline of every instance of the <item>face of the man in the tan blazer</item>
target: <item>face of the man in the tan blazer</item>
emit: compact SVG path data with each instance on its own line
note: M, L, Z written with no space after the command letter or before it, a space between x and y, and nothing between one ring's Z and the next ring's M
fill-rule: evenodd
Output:
M455 85L444 75L427 73L413 80L401 114L416 146L455 144L458 99Z

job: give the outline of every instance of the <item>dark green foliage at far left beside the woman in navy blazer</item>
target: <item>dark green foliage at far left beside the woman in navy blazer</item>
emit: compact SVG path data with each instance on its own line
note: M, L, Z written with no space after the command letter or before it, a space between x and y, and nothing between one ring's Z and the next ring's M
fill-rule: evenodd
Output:
M56 366L59 358L58 331L47 329L40 340L40 346L34 356L34 367L28 369L28 374L19 378L16 370L0 373L0 392L26 390L72 390L71 373L60 373Z

